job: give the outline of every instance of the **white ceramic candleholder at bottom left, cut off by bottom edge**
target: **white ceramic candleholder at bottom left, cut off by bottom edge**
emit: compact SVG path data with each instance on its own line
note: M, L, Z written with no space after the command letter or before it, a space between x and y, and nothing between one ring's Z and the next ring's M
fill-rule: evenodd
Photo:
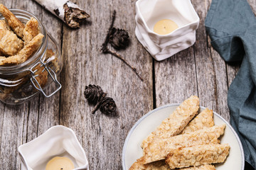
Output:
M45 170L53 157L68 157L74 170L89 170L84 149L70 128L53 126L35 140L18 147L21 156L21 169Z

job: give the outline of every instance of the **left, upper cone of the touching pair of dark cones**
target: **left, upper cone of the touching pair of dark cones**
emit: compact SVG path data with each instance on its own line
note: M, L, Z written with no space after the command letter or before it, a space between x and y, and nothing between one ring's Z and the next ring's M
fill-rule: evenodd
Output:
M97 104L100 99L106 96L106 94L102 91L100 86L91 85L85 86L84 91L85 98L89 101L89 103L92 103L94 105Z

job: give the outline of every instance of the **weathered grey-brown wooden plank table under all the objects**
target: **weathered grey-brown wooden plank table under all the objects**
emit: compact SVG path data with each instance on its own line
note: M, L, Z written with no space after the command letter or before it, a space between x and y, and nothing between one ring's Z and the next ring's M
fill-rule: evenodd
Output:
M75 30L32 0L0 2L8 8L30 11L41 19L60 44L64 59L58 77L63 88L58 94L50 98L40 94L19 106L0 103L0 169L20 169L18 146L54 125L75 131L90 169L122 169L122 147L134 123L154 108L181 103L191 95L199 96L201 106L229 120L228 86L239 64L226 64L210 45L203 26L210 0L192 0L201 18L196 43L161 62L153 60L134 34L135 0L76 1L91 17ZM255 12L256 1L249 3ZM114 26L128 30L132 41L127 50L119 53L142 73L144 81L121 60L100 52L114 9ZM90 113L93 107L83 95L88 84L101 86L107 96L114 98L117 116Z

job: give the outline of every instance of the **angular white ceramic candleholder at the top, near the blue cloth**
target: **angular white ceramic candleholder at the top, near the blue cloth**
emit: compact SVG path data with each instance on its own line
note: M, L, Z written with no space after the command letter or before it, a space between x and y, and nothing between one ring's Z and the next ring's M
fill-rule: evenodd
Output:
M154 33L157 21L170 19L178 28L167 35ZM135 34L156 60L164 60L196 42L199 17L190 0L139 0Z

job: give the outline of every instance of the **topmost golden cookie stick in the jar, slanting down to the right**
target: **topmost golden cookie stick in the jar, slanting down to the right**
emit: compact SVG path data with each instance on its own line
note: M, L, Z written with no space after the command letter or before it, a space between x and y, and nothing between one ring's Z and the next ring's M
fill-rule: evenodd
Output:
M8 25L14 30L14 33L20 38L23 38L23 29L25 26L14 16L14 13L11 13L3 4L0 4L0 13L6 18Z

